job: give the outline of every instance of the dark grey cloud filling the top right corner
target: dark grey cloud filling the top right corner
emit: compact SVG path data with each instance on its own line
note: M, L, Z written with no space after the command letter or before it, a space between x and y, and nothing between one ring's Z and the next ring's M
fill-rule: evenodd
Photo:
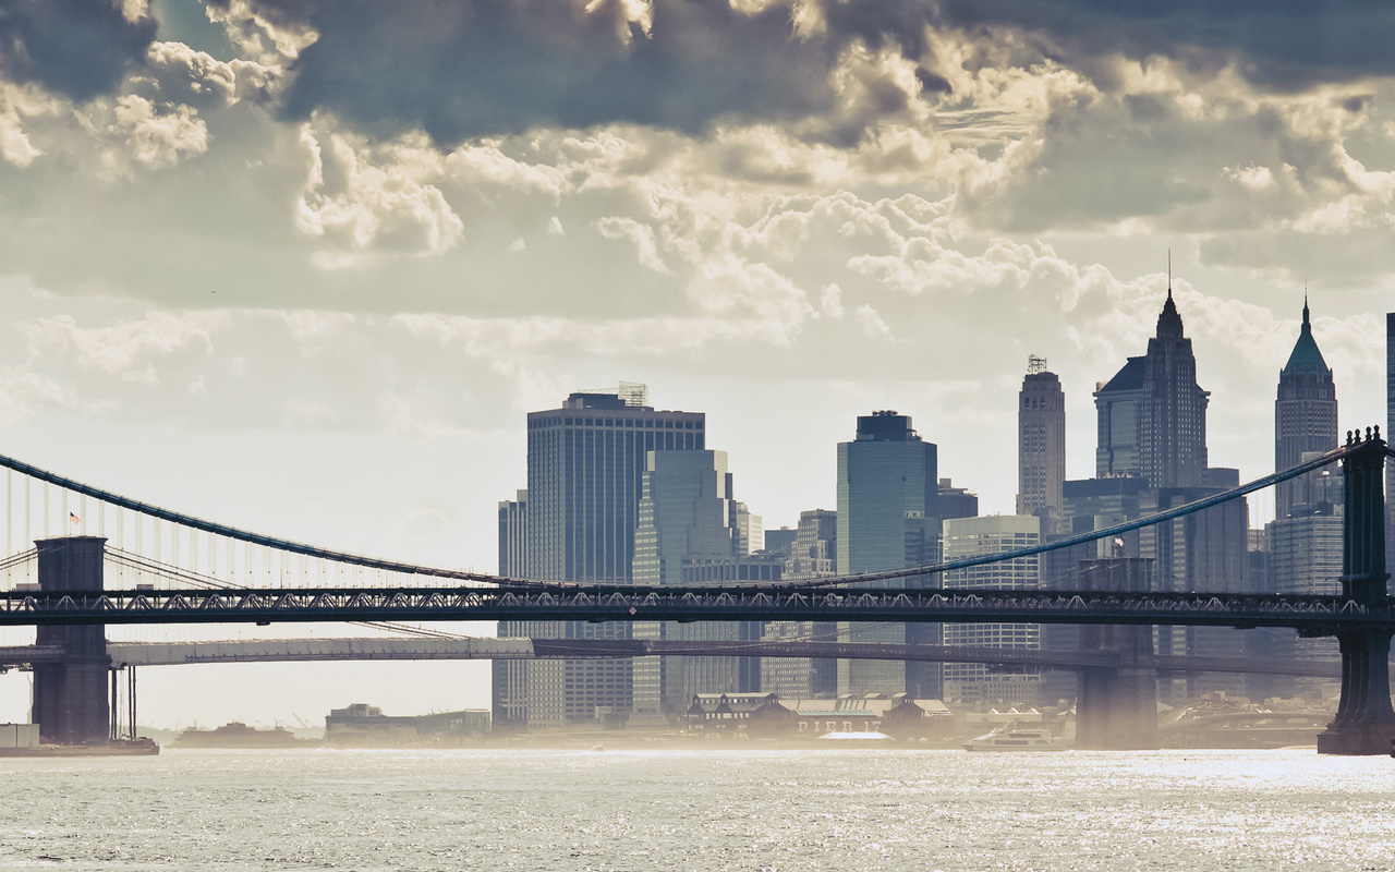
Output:
M943 0L937 24L1035 33L1071 66L1115 53L1235 63L1279 91L1395 74L1395 4L1378 0Z

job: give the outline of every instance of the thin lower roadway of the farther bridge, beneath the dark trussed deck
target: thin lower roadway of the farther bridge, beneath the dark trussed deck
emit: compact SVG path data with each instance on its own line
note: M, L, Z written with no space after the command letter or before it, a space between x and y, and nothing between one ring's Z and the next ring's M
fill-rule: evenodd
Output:
M223 642L109 642L112 664L184 666L204 663L307 663L325 660L537 660L555 657L822 657L838 660L921 660L1030 668L1130 666L1161 672L1251 672L1336 678L1335 660L1152 656L1124 664L1113 652L1055 652L953 645L870 645L855 642L678 642L646 639L257 639ZM1334 649L1335 653L1335 649ZM0 646L0 668L61 663L60 646Z

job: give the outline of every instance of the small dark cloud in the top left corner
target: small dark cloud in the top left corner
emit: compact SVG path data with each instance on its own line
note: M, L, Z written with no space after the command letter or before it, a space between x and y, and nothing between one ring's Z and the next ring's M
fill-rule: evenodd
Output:
M75 100L114 91L153 39L110 0L0 0L0 74Z

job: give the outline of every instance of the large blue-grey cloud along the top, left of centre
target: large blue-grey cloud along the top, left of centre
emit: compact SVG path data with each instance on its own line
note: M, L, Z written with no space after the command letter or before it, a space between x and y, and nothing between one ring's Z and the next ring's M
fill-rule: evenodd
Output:
M213 0L215 3L219 0ZM589 8L583 8L589 7ZM696 133L723 116L792 120L830 110L830 71L864 40L925 53L929 4L830 4L823 35L795 32L787 4L756 14L728 0L654 0L649 32L617 0L254 0L312 27L285 112L315 109L437 141L536 126L636 123ZM923 73L930 89L943 80Z

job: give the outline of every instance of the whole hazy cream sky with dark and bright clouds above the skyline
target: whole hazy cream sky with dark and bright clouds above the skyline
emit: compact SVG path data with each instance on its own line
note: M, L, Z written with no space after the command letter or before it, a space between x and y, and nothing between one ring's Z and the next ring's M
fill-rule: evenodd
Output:
M1212 465L1272 469L1304 282L1342 427L1382 423L1395 6L1129 8L0 0L0 452L492 571L525 413L625 379L707 413L767 527L834 508L875 409L1011 512L1027 356L1092 474L1091 391L1144 352L1169 248ZM162 724L487 692L481 664L142 675Z

